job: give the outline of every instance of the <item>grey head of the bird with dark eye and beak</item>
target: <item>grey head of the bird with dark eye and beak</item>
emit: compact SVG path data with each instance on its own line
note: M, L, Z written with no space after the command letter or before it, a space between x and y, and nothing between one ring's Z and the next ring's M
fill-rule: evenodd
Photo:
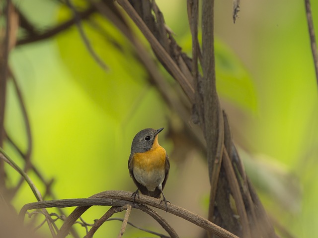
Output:
M146 128L139 131L133 139L131 153L143 153L150 150L161 130L163 130L163 128L159 128L158 130Z

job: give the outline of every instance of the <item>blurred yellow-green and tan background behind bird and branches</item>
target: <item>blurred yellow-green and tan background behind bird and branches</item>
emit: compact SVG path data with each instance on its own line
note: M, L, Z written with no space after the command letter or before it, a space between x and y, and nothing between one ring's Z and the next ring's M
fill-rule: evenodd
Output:
M43 31L73 16L59 1L15 0L14 4ZM157 4L176 41L190 55L186 2L158 0ZM312 12L317 29L318 1L312 1ZM92 19L83 27L107 71L91 58L75 26L10 52L9 65L30 119L33 163L47 181L53 179L58 199L84 198L103 190L135 191L127 168L132 139L141 129L165 127L159 143L169 154L171 169L164 194L171 203L206 217L209 181L204 154L186 138L175 136L184 130L180 119L149 83L129 41L101 16ZM136 34L149 48L137 29ZM215 1L215 34L218 92L247 174L274 224L295 237L318 236L318 87L304 2L244 0L234 24L232 2ZM5 128L25 150L25 125L12 81L8 81ZM9 143L4 150L23 165ZM7 185L14 186L20 177L5 168ZM44 193L37 176L29 175ZM13 203L19 210L35 201L23 183ZM106 210L94 207L83 218L93 223ZM162 215L180 237L203 234L181 219ZM160 231L146 215L134 210L132 216L137 226ZM103 237L103 231L107 237L116 236L121 223L110 223L96 237ZM84 234L83 228L77 230ZM127 234L150 236L131 227Z

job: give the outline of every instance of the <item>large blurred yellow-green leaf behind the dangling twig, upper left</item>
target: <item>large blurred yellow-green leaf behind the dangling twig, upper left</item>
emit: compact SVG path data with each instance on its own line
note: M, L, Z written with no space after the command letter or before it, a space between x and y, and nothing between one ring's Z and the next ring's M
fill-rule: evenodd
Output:
M68 9L60 9L59 20L70 16ZM75 26L56 38L62 60L89 97L114 119L121 120L127 116L129 103L142 92L147 74L130 43L105 18L94 15L89 22L82 21L82 27L109 70L103 70L88 53Z

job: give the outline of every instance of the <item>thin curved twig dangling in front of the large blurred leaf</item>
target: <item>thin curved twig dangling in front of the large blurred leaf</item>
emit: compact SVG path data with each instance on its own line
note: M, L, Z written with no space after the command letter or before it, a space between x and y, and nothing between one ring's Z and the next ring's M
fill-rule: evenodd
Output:
M87 36L85 35L85 32L82 28L82 25L80 23L80 17L78 14L78 11L76 10L75 6L72 4L71 0L66 0L66 3L68 4L68 6L71 8L71 10L73 11L74 14L74 18L75 18L75 23L76 26L79 30L79 35L81 37L81 39L84 42L84 45L86 47L86 49L88 50L88 53L91 55L91 57L97 62L97 64L103 69L103 70L107 70L108 67L107 65L104 63L103 60L100 59L100 57L96 54L96 52L94 51L94 49L92 48Z

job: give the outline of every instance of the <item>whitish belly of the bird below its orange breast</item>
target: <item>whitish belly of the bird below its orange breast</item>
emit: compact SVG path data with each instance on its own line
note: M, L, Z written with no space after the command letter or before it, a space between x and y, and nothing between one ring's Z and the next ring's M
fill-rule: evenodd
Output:
M147 187L149 191L155 191L156 187L160 186L165 177L164 170L145 171L134 167L133 169L135 179Z

